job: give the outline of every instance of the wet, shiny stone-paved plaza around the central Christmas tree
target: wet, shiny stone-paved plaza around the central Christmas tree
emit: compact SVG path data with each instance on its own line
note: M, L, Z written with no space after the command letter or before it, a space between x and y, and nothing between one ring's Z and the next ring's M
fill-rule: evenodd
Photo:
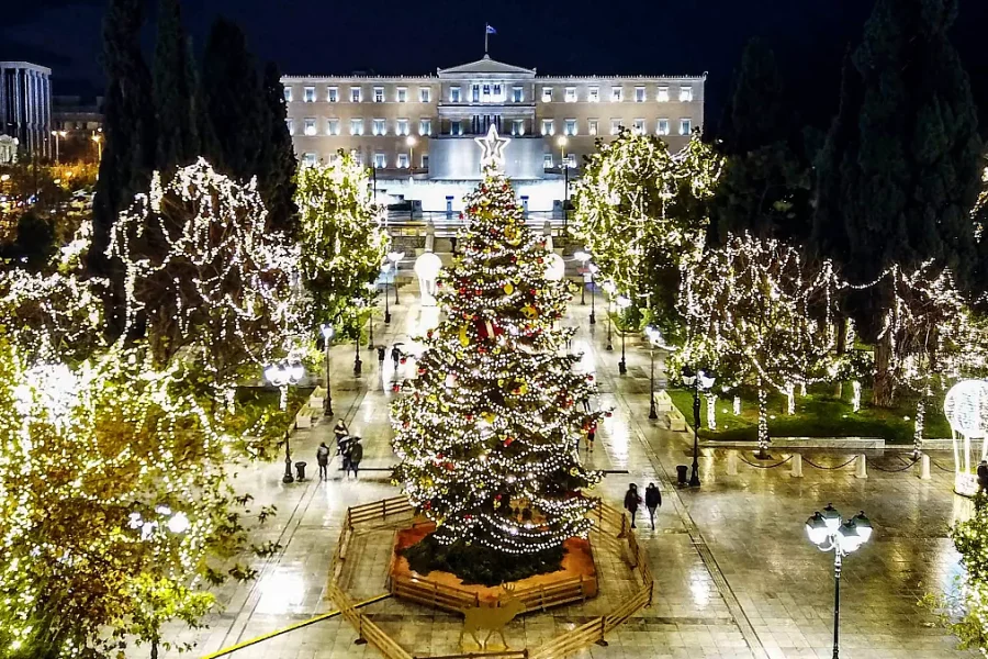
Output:
M411 288L403 304L392 306L393 319L375 324L378 343L404 342L434 324L436 311L422 310ZM587 302L590 302L587 300ZM842 657L855 659L922 659L973 657L955 649L955 639L933 626L933 617L917 602L927 592L951 587L957 555L947 538L950 524L965 514L965 503L951 492L951 474L934 467L932 480L917 478L894 451L873 453L867 479L854 477L853 466L818 469L805 465L805 477L793 478L788 466L759 467L750 453L738 454L738 473L728 476L727 450L704 449L703 485L676 489L675 466L688 465L692 437L672 433L648 418L649 354L640 342L627 342L628 372L618 375L620 340L606 351L606 321L597 300L598 323L588 325L590 304L579 299L564 326L577 327L573 347L585 353L581 368L597 376L600 394L594 404L614 407L598 433L590 466L607 472L597 494L619 506L630 482L649 482L663 493L656 527L638 520L638 536L655 578L652 606L616 632L606 648L584 654L600 659L631 658L816 658L831 656L833 556L811 546L806 518L828 502L845 516L866 511L875 527L872 540L844 561ZM361 349L363 373L352 376L353 346L333 350L333 401L353 434L363 438L366 454L359 479L334 471L329 482L308 480L282 484L283 463L244 466L238 487L256 503L273 503L278 515L259 540L278 540L283 550L257 565L259 578L227 584L221 591L225 610L210 627L169 635L170 640L198 643L201 657L239 641L288 627L332 611L326 596L328 569L347 506L398 494L390 482L394 457L390 448L389 403L395 377L391 360L379 366L375 354ZM411 362L400 369L412 369ZM409 370L411 373L411 370ZM306 460L312 473L315 449L332 440L332 422L299 431L292 439L294 459ZM841 465L847 455L807 453L820 467ZM948 466L945 454L935 456ZM338 467L338 465L337 465ZM760 468L761 467L761 468ZM386 565L386 541L358 545L361 565ZM602 568L607 581L608 569ZM384 573L368 569L348 574L355 596L384 592ZM508 644L538 643L617 605L624 592L603 584L600 596L584 607L570 606L549 616L520 619L508 628ZM452 654L460 630L458 616L394 600L364 610L416 656ZM339 617L321 622L231 655L236 659L339 659L377 657ZM141 656L128 649L127 656ZM165 656L178 656L176 652Z

